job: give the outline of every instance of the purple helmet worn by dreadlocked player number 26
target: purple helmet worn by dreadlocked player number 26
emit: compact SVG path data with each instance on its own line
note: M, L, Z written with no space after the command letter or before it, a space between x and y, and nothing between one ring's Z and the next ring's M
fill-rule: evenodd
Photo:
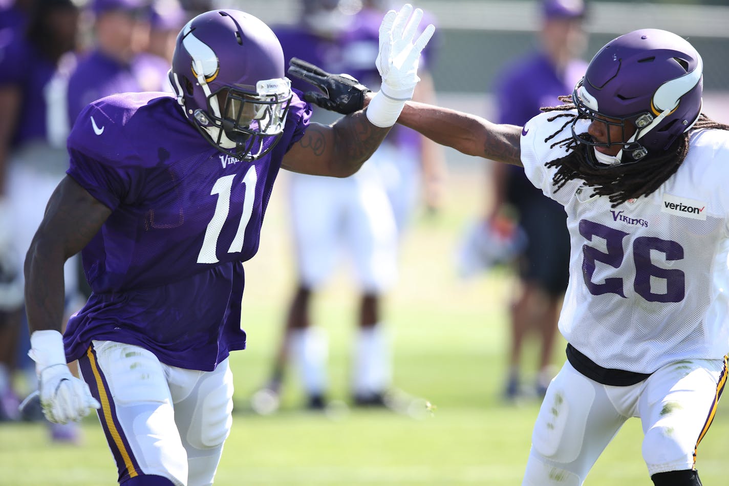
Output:
M622 145L611 165L661 153L698 119L702 73L701 56L676 34L645 28L617 37L590 61L585 77L574 87L572 100L580 115L622 128L623 138L612 141L608 136L604 143L582 138L575 130L577 118L572 136L593 147ZM622 142L628 123L636 131ZM587 153L594 162L594 150Z

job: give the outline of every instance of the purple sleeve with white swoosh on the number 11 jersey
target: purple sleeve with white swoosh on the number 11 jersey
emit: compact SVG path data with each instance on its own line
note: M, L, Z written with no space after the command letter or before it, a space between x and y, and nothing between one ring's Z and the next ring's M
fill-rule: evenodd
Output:
M80 114L68 139L70 156L66 171L82 188L109 209L133 203L139 196L139 155L114 123L95 104Z

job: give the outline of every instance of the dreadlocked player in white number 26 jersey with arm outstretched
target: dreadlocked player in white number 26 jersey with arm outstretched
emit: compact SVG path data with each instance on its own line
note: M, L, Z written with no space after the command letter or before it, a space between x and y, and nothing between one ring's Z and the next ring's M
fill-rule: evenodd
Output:
M656 486L701 485L698 445L729 351L729 126L701 112L702 85L693 46L643 29L602 47L572 97L524 127L413 102L399 117L440 144L523 166L564 206L567 360L523 485L582 485L630 417Z

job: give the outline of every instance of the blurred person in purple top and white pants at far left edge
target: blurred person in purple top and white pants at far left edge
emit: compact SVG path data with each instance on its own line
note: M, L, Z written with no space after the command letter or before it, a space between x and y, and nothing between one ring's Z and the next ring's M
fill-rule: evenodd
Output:
M26 20L0 34L0 394L3 414L11 419L19 417L17 398L10 407L13 366L16 358L23 362L30 348L28 336L18 336L26 328L20 325L22 262L46 202L68 166L65 143L55 143L65 107L54 80L74 64L79 18L71 0L23 2L18 11L26 12ZM66 263L66 271L71 303L77 294L74 262ZM34 375L27 374L31 388L36 387ZM29 418L33 415L42 417L28 412ZM74 425L52 425L51 430L54 439L78 438Z

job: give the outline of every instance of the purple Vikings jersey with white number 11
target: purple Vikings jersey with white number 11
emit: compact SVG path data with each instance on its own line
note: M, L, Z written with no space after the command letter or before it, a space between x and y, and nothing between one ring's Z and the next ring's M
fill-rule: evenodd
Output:
M81 112L68 174L112 214L82 251L93 293L69 320L66 358L108 339L210 371L245 347L241 262L258 250L281 160L308 126L299 95L281 140L253 162L211 147L165 93L109 96Z

